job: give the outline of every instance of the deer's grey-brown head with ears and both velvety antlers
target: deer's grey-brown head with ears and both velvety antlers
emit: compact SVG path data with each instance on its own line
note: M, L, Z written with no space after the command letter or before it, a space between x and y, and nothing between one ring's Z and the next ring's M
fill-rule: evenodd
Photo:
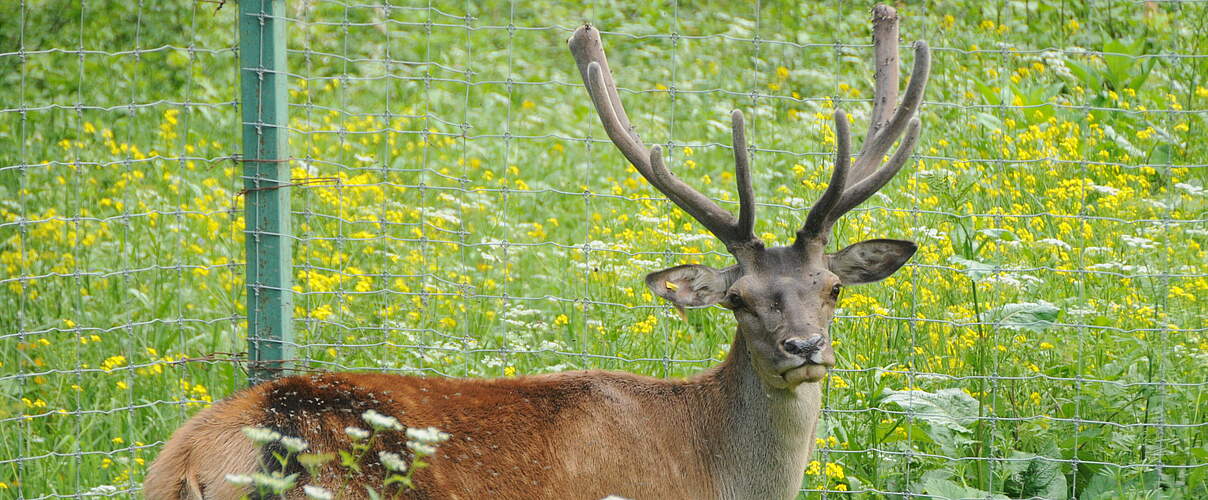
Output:
M745 349L763 384L786 389L818 382L835 366L829 325L844 286L882 280L914 254L911 242L872 239L834 254L825 251L835 221L889 182L906 163L919 134L914 117L930 69L930 52L914 45L914 68L898 101L898 18L893 8L873 12L876 83L871 124L861 151L852 158L847 115L835 112L837 155L830 184L788 246L767 248L754 233L751 190L743 115L731 116L739 213L736 219L713 199L675 178L658 146L647 149L629 124L612 81L599 31L580 27L570 37L596 111L612 143L639 173L720 239L737 264L725 269L689 264L658 271L646 285L678 307L720 304L733 312ZM901 144L888 162L884 155ZM734 345L734 348L741 348Z

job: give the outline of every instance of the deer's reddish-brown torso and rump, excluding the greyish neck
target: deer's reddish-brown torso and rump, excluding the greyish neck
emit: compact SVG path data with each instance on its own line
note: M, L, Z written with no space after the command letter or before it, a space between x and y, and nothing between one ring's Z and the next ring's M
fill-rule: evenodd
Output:
M430 466L414 476L408 498L710 498L705 443L692 436L685 397L698 386L628 373L568 372L505 379L452 379L324 373L272 380L216 403L190 419L152 464L149 499L226 499L243 494L228 473L251 473L284 449L254 447L244 426L263 426L307 441L307 453L350 449L345 428L367 428L370 409L407 428L452 435ZM674 425L676 432L666 432ZM364 457L359 484L382 484L378 450L406 452L402 432L379 432ZM348 481L333 463L300 484L339 490ZM382 492L381 487L377 487Z

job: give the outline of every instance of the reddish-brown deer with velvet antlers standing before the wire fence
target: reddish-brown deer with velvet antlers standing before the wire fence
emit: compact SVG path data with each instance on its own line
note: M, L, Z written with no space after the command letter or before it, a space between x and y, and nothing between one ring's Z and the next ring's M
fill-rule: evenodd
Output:
M571 56L610 141L655 188L716 237L734 264L683 264L645 284L681 308L720 306L737 322L725 359L684 379L611 371L573 371L496 379L383 373L313 373L244 389L188 419L146 475L149 499L252 495L226 475L280 470L298 486L368 498L352 484L382 484L376 454L358 477L281 465L245 426L272 429L310 450L347 449L344 429L374 411L408 428L435 426L452 438L416 472L414 499L791 499L814 448L821 386L836 364L829 332L844 286L882 280L904 266L914 243L871 239L827 252L836 221L885 186L919 136L916 116L930 72L927 43L899 103L898 14L873 10L875 89L867 135L850 153L848 117L834 114L836 155L830 182L791 245L766 246L754 233L755 199L743 114L733 111L738 216L673 175L660 146L634 132L588 24L569 39ZM837 106L836 106L837 107ZM889 150L896 151L885 159ZM406 452L401 432L377 450ZM274 469L275 467L275 469ZM382 493L381 490L378 493ZM285 498L303 498L300 489ZM255 498L255 496L252 496Z

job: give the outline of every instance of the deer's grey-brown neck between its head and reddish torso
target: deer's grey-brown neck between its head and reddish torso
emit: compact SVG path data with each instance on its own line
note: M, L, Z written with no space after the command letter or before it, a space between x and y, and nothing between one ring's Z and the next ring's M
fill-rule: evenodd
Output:
M704 374L718 386L715 470L722 498L792 498L814 448L821 409L815 383L774 389L760 382L743 332L734 335L730 355Z

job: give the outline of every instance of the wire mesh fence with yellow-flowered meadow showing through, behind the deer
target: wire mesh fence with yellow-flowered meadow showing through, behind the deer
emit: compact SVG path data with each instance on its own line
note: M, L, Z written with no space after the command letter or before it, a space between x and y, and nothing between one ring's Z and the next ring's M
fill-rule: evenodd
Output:
M641 285L725 249L598 126L591 22L644 139L785 243L870 110L871 2L290 2L294 370L678 377L724 310ZM245 384L238 8L0 6L0 492L137 495ZM844 292L807 498L1208 495L1208 4L899 6L934 70L916 158L836 249L919 254ZM908 56L904 54L908 64Z

